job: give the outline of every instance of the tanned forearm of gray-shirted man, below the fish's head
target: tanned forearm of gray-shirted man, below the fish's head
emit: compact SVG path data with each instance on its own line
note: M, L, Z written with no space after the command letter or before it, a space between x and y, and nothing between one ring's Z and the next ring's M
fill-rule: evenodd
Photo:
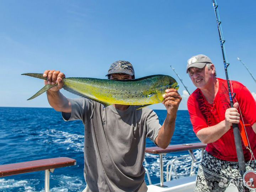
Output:
M170 144L172 135L174 134L175 120L176 120L176 113L167 114L164 124L159 130L158 137L156 138L156 141L155 141L160 148L165 149Z

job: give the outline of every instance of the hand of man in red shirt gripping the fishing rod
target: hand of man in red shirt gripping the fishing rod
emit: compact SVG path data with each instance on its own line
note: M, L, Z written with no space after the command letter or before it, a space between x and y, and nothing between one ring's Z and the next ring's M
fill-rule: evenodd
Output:
M229 128L233 123L238 124L240 120L240 114L238 113L238 103L234 103L233 108L228 108L225 112L225 126Z

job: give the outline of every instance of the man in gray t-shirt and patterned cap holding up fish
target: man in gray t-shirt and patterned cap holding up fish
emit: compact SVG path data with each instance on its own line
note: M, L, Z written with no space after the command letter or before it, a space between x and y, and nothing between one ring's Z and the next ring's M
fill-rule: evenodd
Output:
M62 112L65 121L80 119L84 123L85 191L146 191L143 167L146 138L161 148L170 144L181 101L177 90L166 90L163 95L167 117L161 126L158 116L149 108L135 110L134 106L116 104L103 108L100 103L86 98L68 99L59 92L65 77L63 73L47 70L44 76L46 84L58 83L47 91L50 105ZM111 80L134 79L133 66L117 61L106 76Z

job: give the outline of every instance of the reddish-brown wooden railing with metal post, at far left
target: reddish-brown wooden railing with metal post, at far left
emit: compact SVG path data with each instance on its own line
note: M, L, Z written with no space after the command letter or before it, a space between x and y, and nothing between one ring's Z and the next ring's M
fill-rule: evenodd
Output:
M44 191L49 192L50 172L53 173L54 169L56 168L72 165L76 165L76 160L67 157L6 164L0 165L0 177L30 173L35 171L44 171Z

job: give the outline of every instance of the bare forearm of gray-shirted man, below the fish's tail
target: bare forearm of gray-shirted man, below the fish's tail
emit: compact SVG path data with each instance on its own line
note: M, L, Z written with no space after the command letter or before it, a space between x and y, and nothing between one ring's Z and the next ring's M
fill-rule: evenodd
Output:
M71 106L69 105L69 100L64 95L62 95L60 91L48 90L47 99L50 106L52 106L54 110L71 113Z

